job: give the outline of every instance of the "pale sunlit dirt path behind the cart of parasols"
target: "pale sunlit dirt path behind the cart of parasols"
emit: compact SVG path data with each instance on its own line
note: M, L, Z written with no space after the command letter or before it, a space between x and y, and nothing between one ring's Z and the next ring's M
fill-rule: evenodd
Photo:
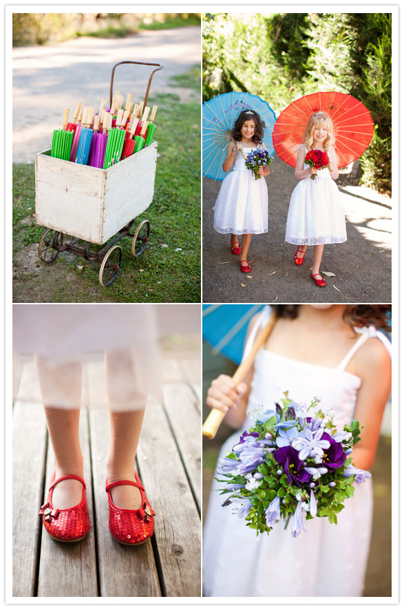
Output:
M54 129L61 127L63 109L76 103L109 101L111 70L118 61L161 63L151 82L150 95L178 93L187 101L189 90L169 87L169 79L200 63L200 28L142 31L124 39L83 37L49 46L13 50L13 162L33 162L37 152L50 147ZM114 90L140 101L151 66L116 68Z

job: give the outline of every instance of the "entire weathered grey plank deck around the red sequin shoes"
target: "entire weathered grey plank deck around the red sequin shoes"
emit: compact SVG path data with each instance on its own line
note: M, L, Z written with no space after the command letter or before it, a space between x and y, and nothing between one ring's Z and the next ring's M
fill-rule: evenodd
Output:
M38 516L53 457L50 443L46 450L34 364L24 362L14 405L14 596L200 596L198 392L180 361L167 366L178 375L182 372L184 381L164 386L164 404L147 408L137 456L138 472L156 512L156 532L145 545L126 547L116 543L108 529L103 360L84 366L81 443L92 529L74 544L50 538ZM34 400L28 402L30 395Z

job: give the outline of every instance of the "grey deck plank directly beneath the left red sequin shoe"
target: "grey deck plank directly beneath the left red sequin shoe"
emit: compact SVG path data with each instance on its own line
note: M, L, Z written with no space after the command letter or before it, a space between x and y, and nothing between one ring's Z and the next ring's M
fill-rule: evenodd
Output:
M62 543L43 531L41 558L39 562L39 597L96 597L98 596L96 574L96 547L94 536L94 514L92 500L92 472L89 453L89 430L87 409L81 409L80 438L84 459L84 477L87 486L87 504L92 529L76 543ZM46 483L43 503L54 470L52 445L49 442L46 465Z

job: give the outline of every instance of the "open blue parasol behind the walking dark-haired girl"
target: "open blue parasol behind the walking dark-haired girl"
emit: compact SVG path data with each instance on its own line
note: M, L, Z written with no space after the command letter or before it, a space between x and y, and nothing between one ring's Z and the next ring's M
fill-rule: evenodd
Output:
M231 129L242 110L253 109L264 120L263 142L273 156L272 132L276 116L270 105L251 93L230 92L204 102L202 106L202 173L213 180L224 180L222 165L231 141Z

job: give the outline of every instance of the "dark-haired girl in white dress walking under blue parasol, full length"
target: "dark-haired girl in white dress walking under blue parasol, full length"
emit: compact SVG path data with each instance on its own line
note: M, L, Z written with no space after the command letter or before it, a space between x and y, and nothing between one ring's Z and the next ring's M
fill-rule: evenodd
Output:
M217 233L231 233L231 252L241 254L240 271L248 273L251 266L247 255L253 233L268 232L268 189L262 178L268 176L269 167L260 167L261 178L255 180L245 166L248 152L264 149L262 142L265 123L254 110L243 110L231 132L223 170L229 171L215 203L214 227ZM238 241L242 235L242 246Z

